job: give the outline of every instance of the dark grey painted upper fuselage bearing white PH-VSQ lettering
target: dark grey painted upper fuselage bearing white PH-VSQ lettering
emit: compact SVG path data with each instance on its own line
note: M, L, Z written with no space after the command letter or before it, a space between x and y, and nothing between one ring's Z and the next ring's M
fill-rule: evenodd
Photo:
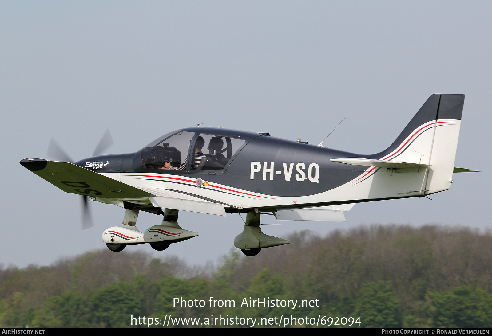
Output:
M209 182L269 196L309 196L337 188L361 175L368 168L331 162L330 159L361 157L379 160L394 151L419 125L437 119L461 120L463 101L464 95L431 95L391 146L380 153L370 155L279 139L268 134L191 127L182 129L184 132L194 133L188 153L182 153L182 156L190 157L191 148L194 148L191 144L195 143L200 134L241 139L244 140L244 144L221 170L193 170L189 164L184 170L146 168L141 155L146 148L135 153L92 157L76 164L97 172L165 173L193 179L200 177ZM91 163L97 167L91 167Z

